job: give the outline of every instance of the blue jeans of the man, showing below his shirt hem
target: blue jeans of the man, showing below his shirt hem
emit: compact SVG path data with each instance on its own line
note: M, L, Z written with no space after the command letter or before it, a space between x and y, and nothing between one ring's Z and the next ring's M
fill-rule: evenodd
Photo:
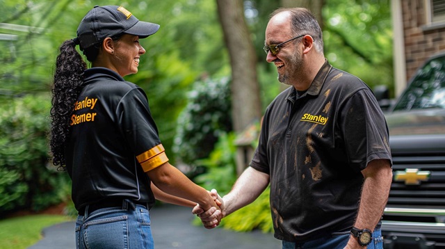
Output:
M332 236L326 236L305 243L295 243L282 241L283 249L340 249L344 248L348 243L350 232L338 232ZM367 249L382 249L383 237L382 230L374 230L373 241L369 243Z

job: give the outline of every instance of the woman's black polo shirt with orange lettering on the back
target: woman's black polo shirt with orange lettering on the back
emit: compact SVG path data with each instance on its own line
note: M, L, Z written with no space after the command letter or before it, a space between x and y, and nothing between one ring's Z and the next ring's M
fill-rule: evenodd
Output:
M145 172L168 161L143 89L104 67L84 73L65 149L76 209L108 198L154 204Z

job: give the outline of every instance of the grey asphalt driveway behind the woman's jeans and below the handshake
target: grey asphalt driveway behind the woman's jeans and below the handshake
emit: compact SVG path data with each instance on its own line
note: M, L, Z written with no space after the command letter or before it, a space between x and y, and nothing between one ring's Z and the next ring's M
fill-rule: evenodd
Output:
M164 204L150 210L154 248L156 249L281 249L273 234L260 231L234 232L216 227L207 230L192 224L191 209ZM75 249L74 221L42 230L43 239L28 249Z

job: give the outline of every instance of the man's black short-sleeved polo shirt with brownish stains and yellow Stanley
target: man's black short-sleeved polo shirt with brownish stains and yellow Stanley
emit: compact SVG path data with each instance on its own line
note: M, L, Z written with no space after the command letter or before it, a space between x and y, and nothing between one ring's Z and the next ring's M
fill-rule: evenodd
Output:
M353 226L363 175L389 159L388 129L370 88L327 61L306 93L266 109L250 166L270 175L275 237L304 242ZM376 193L378 194L378 193Z

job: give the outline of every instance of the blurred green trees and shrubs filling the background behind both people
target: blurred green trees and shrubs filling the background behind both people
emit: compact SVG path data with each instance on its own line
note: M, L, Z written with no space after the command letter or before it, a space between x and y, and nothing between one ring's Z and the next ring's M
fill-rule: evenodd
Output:
M319 4L319 11L313 12L319 13L325 56L334 67L357 75L371 88L394 88L389 0L238 1L241 7L236 10L245 17L246 40L253 48L254 68L247 63L246 68L255 71L259 89L241 97L249 102L258 95L261 102L248 112L261 115L284 89L275 66L266 62L264 29L273 10L296 2ZM229 17L222 13L234 11L218 9L224 2L0 0L0 218L60 202L75 214L70 179L51 165L48 154L51 77L58 47L76 37L81 18L96 4L124 6L138 19L161 25L158 33L141 40L147 53L138 74L126 79L146 91L172 164L197 184L227 193L236 179L236 138L247 127L235 114L252 107L234 97L240 86L234 77L240 67L236 62L245 58L228 49L225 33L237 27L226 26L223 32ZM268 191L223 225L270 232Z

